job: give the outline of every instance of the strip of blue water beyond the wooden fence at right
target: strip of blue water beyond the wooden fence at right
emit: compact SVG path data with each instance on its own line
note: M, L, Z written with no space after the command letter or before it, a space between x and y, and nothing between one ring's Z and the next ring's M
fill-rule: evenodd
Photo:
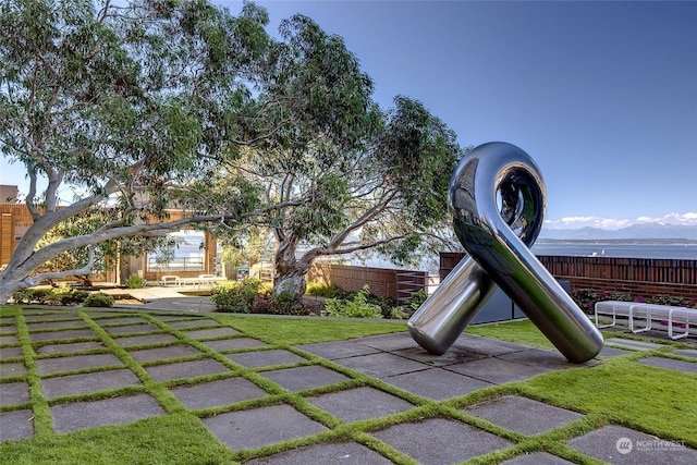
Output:
M697 244L539 243L535 255L697 260Z

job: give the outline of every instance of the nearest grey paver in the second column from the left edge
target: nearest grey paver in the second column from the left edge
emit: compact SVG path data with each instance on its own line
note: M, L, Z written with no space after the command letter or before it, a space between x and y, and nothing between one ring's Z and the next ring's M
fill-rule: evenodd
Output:
M135 394L93 402L72 402L50 407L57 433L98 426L136 421L164 415L162 407L148 394Z

